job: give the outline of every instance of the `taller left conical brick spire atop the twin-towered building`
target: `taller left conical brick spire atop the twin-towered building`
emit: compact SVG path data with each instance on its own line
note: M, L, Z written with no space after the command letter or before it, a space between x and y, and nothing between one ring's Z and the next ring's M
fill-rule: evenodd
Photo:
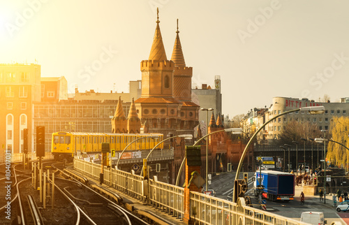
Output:
M151 45L149 60L168 60L163 47L163 37L161 36L159 20L156 20L156 29L154 34L153 45Z

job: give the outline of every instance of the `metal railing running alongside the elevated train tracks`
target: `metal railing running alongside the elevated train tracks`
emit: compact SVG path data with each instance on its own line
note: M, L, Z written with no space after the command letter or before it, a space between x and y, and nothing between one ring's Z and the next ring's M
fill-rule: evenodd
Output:
M74 168L80 173L99 180L101 164L74 159ZM163 210L179 219L184 217L184 188L158 182L156 179L144 180L143 177L122 170L104 167L104 182L115 189L141 200L148 199L149 205ZM112 175L112 176L110 176ZM111 180L110 180L111 177ZM148 198L147 198L148 196ZM245 205L244 198L237 203L208 196L196 191L189 194L191 219L200 224L247 224L247 225L301 225L306 224L295 219L282 217Z

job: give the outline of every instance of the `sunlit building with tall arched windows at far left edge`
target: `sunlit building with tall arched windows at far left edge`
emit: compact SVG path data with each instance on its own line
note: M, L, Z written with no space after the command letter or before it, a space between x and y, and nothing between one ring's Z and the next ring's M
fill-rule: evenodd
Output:
M23 130L32 135L31 106L40 94L40 65L0 64L1 150L23 152Z

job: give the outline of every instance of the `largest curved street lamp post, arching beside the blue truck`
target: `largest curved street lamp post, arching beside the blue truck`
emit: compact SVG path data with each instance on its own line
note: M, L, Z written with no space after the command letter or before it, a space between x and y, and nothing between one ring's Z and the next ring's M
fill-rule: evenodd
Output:
M242 162L244 161L244 158L245 158L245 155L246 155L246 152L248 150L248 147L250 147L253 139L255 138L255 136L257 136L257 134L267 125L269 124L269 122L272 122L274 119L278 118L278 117L281 117L283 115L286 115L288 113L293 113L293 112L297 112L297 111L308 111L310 114L322 114L322 113L325 113L325 107L324 106L311 106L311 107L303 107L303 108L297 108L297 109L294 109L294 110L289 110L289 111L286 111L286 112L283 112L279 115L276 115L275 117L272 117L272 119L269 119L267 122L265 122L265 124L263 124L262 126L260 126L260 128L255 131L255 133L253 134L253 136L251 137L251 139L248 141L245 149L244 149L244 152L242 152L242 156L240 157L240 161L239 161L239 166L237 166L237 173L235 175L235 180L238 180L239 179L239 174L240 174L240 169L242 167ZM233 195L232 195L232 201L236 203L237 199L235 199L235 189L233 191Z

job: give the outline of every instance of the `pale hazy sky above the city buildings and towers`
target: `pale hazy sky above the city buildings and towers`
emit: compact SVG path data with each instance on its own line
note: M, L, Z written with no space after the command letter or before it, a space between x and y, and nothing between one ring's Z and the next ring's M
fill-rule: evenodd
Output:
M156 7L166 55L176 20L193 87L221 75L223 114L269 107L274 96L349 96L349 1L0 1L0 62L64 75L69 92L128 92L149 57ZM115 85L114 85L115 83Z

